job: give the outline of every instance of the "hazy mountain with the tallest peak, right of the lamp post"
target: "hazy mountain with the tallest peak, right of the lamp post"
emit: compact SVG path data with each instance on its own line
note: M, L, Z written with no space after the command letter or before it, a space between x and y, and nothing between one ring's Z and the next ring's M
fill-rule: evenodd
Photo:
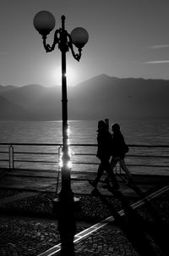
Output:
M99 75L72 93L70 106L78 118L169 117L169 81Z

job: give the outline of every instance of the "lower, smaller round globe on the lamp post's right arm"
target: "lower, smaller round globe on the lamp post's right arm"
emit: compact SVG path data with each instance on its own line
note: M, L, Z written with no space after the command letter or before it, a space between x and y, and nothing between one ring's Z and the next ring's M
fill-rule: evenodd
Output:
M89 40L89 34L88 32L81 27L75 28L71 34L72 42L74 43L75 47L78 47L81 49L85 46L86 42Z

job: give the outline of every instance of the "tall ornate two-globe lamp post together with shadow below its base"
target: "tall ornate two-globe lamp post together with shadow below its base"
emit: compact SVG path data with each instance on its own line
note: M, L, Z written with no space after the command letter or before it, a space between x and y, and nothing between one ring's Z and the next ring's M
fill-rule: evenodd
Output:
M66 77L66 53L71 50L74 58L79 61L81 58L82 48L88 42L89 35L84 28L77 27L70 34L65 30L65 16L61 17L62 27L57 29L54 34L52 46L46 43L47 35L55 26L54 16L47 12L41 11L35 14L34 26L41 34L43 46L46 53L50 53L58 45L62 53L62 114L63 114L63 167L62 189L59 193L58 203L58 229L61 237L61 255L74 255L74 234L76 223L74 219L74 193L71 190L70 160L68 154L68 98L67 98L67 77ZM78 53L74 52L74 46L78 48Z

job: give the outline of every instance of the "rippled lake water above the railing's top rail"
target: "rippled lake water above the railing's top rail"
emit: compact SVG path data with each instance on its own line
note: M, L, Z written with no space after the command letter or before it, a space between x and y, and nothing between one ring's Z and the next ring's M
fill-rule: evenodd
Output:
M119 120L118 123L129 144L169 144L169 120ZM70 120L68 125L70 143L96 143L97 120ZM62 143L62 122L1 121L0 142Z

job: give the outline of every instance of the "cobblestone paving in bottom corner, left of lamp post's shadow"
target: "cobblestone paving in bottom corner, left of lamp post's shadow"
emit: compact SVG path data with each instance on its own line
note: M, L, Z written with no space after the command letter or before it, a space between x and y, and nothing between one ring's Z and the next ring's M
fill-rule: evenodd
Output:
M0 255L36 255L59 242L57 221L0 217Z

